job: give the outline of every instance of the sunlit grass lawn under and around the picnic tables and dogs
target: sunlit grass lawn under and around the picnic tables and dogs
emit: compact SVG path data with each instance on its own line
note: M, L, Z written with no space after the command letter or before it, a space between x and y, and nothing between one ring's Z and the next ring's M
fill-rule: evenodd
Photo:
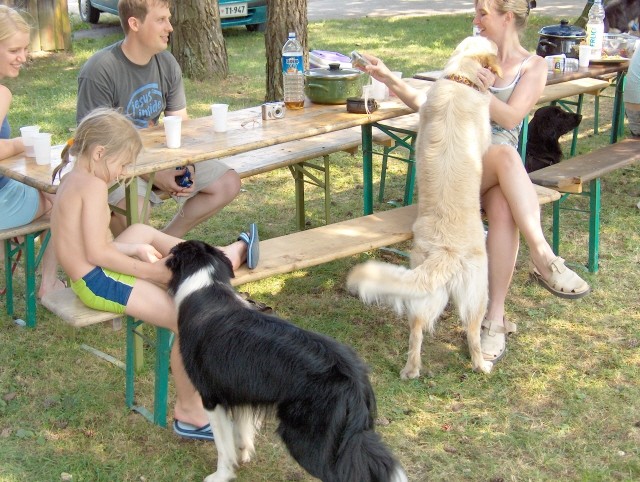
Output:
M525 44L535 50L539 28L559 19L532 20ZM309 45L375 53L410 77L442 67L470 32L470 15L326 21L309 25ZM208 115L214 100L232 109L263 101L262 35L234 29L225 38L229 78L186 81L193 117ZM72 53L37 56L19 79L8 81L14 93L14 132L37 123L54 133L54 142L66 140L75 125L78 69L115 40L75 41ZM593 99L588 99L580 152L608 142L609 90L601 101L598 135L593 133ZM331 159L333 220L359 216L361 156ZM387 198L402 196L404 166L399 164L390 162ZM364 306L345 292L344 282L358 262L385 257L405 263L402 258L375 251L242 289L299 326L353 346L366 360L378 400L378 430L412 481L638 480L640 167L605 177L602 190L600 270L583 273L593 293L566 301L532 283L523 245L507 305L518 333L489 376L471 371L457 315L448 310L435 335L425 338L423 375L400 380L408 344L405 321L384 308ZM572 202L580 208L581 201ZM323 222L322 203L321 190L308 188L309 226ZM155 210L153 225L163 226L175 209L167 202ZM542 217L550 239L550 207ZM252 221L259 222L264 239L295 230L288 170L245 180L238 198L189 238L228 244ZM563 216L561 254L568 262L586 262L587 232L585 215ZM16 276L20 285L20 270ZM74 330L40 309L37 329L28 331L6 316L3 299L0 305L0 481L57 481L63 473L73 481L196 481L213 471L213 444L180 440L130 413L124 405L124 373L80 349L86 344L123 359L123 330ZM139 396L147 405L150 365L141 374ZM238 480L312 480L288 456L274 429L275 422L269 421L258 437L255 460L238 471Z

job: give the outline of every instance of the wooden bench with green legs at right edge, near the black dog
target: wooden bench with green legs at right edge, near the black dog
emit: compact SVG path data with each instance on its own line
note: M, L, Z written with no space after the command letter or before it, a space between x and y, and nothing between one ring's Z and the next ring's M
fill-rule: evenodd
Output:
M640 160L640 138L628 138L616 144L564 160L529 174L535 184L563 193L553 203L553 250L559 254L561 203L570 194L589 197L589 271L598 271L600 246L600 178ZM587 184L589 185L586 190Z

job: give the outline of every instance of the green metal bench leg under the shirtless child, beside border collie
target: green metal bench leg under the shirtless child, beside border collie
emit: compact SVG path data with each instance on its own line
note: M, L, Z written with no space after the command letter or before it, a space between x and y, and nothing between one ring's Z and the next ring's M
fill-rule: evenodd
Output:
M169 361L171 358L171 345L173 334L166 328L156 327L155 340L155 384L153 413L141 405L135 403L135 346L136 338L143 335L139 328L141 321L136 321L132 317L127 317L127 348L126 348L126 368L125 368L125 403L131 410L140 413L150 422L160 427L167 426L167 402L169 392Z

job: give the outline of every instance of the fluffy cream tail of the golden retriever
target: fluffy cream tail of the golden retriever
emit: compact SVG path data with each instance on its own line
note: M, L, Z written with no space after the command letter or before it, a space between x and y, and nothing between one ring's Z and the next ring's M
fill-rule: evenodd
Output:
M462 268L456 256L433 256L414 269L368 261L351 270L347 288L365 303L384 303L399 314L405 302L423 298L444 286Z

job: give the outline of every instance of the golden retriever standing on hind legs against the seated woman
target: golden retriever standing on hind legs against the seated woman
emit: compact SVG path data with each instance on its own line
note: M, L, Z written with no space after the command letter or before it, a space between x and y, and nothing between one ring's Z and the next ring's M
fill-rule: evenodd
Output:
M413 225L411 269L379 261L356 266L347 287L363 301L385 303L409 316L409 356L403 379L420 375L424 330L451 298L457 308L473 369L489 373L480 330L488 302L488 268L480 217L482 156L491 144L490 96L478 70L500 75L497 47L468 37L453 52L443 76L420 107L416 144L418 217Z

